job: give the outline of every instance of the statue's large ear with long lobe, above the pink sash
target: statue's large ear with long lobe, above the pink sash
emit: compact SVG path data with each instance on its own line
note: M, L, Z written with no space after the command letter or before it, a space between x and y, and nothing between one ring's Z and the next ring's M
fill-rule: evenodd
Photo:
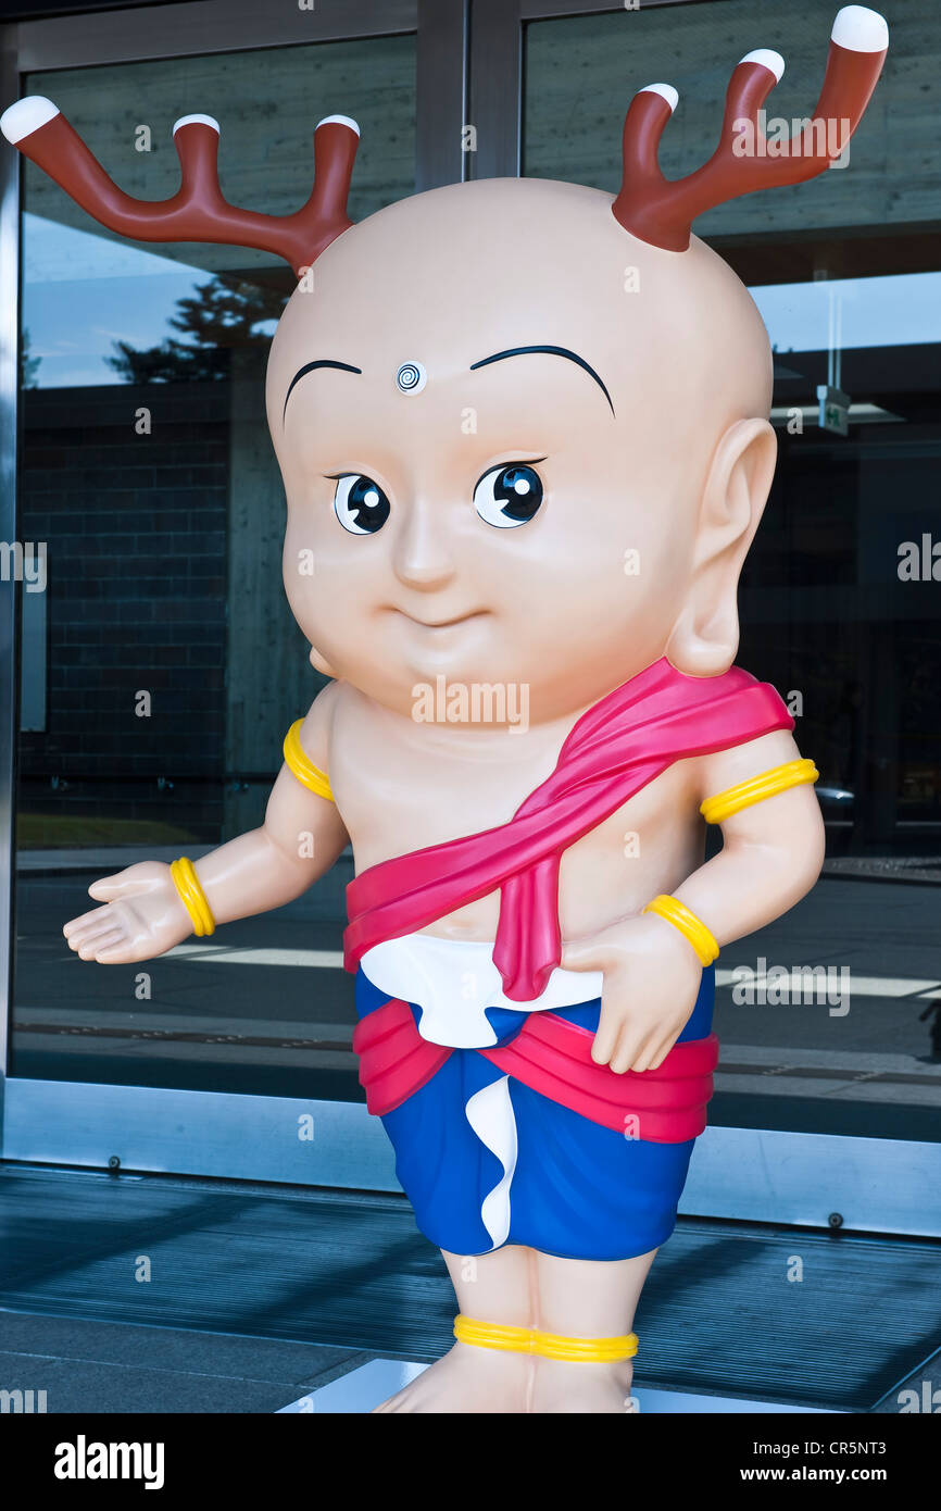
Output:
M739 650L739 574L775 474L778 438L767 420L736 420L702 491L686 601L666 656L689 677L717 677Z

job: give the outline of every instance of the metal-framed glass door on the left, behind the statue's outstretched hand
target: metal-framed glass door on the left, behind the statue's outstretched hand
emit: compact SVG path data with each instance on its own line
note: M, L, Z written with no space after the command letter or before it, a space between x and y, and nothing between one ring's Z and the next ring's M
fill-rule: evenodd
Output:
M202 41L211 9L189 8ZM427 26L424 6L319 6L267 32L251 8L224 9L219 50L172 57L151 56L168 50L160 9L83 18L97 42L76 44L76 66L59 23L20 27L3 103L50 97L145 199L175 192L172 122L189 113L221 122L222 192L275 215L310 195L325 115L361 127L353 221L461 177L462 91L440 83L462 74L461 6L435 8ZM437 63L447 44L450 73ZM54 66L32 66L45 53ZM11 221L8 198L8 236ZM83 961L62 935L94 907L94 881L196 860L258 827L284 734L323 683L284 597L285 505L264 417L290 269L233 246L118 237L29 162L17 230L3 1154L394 1186L350 1047L349 854L296 902L137 966ZM9 240L5 251L15 267Z

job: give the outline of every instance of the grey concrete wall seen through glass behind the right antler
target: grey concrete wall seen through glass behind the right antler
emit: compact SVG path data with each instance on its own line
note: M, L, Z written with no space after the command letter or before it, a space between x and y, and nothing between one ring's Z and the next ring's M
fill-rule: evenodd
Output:
M616 193L621 130L634 91L656 80L680 89L663 133L668 178L711 154L733 68L755 47L776 48L787 71L769 116L808 116L817 101L834 0L716 0L649 6L527 27L524 168ZM891 39L876 94L850 147L850 166L788 189L710 210L710 236L822 231L941 219L941 8L938 0L885 0ZM891 103L891 109L890 109Z

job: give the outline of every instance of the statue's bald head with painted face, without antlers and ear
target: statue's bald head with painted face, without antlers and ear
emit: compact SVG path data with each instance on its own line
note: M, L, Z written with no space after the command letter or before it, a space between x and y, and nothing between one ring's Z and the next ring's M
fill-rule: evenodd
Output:
M772 358L722 258L610 205L535 178L417 195L337 237L287 305L285 588L317 663L381 700L444 672L526 681L554 716L669 642L719 443L766 420Z

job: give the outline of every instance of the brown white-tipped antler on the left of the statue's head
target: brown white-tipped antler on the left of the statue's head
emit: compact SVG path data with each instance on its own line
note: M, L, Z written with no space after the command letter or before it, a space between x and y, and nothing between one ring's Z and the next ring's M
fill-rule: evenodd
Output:
M17 100L0 130L101 225L139 242L222 242L284 257L301 273L352 225L346 198L359 127L331 115L314 131L314 187L295 215L260 215L230 204L219 187L219 122L184 115L174 125L181 183L169 199L134 199L107 177L62 112L42 95Z

